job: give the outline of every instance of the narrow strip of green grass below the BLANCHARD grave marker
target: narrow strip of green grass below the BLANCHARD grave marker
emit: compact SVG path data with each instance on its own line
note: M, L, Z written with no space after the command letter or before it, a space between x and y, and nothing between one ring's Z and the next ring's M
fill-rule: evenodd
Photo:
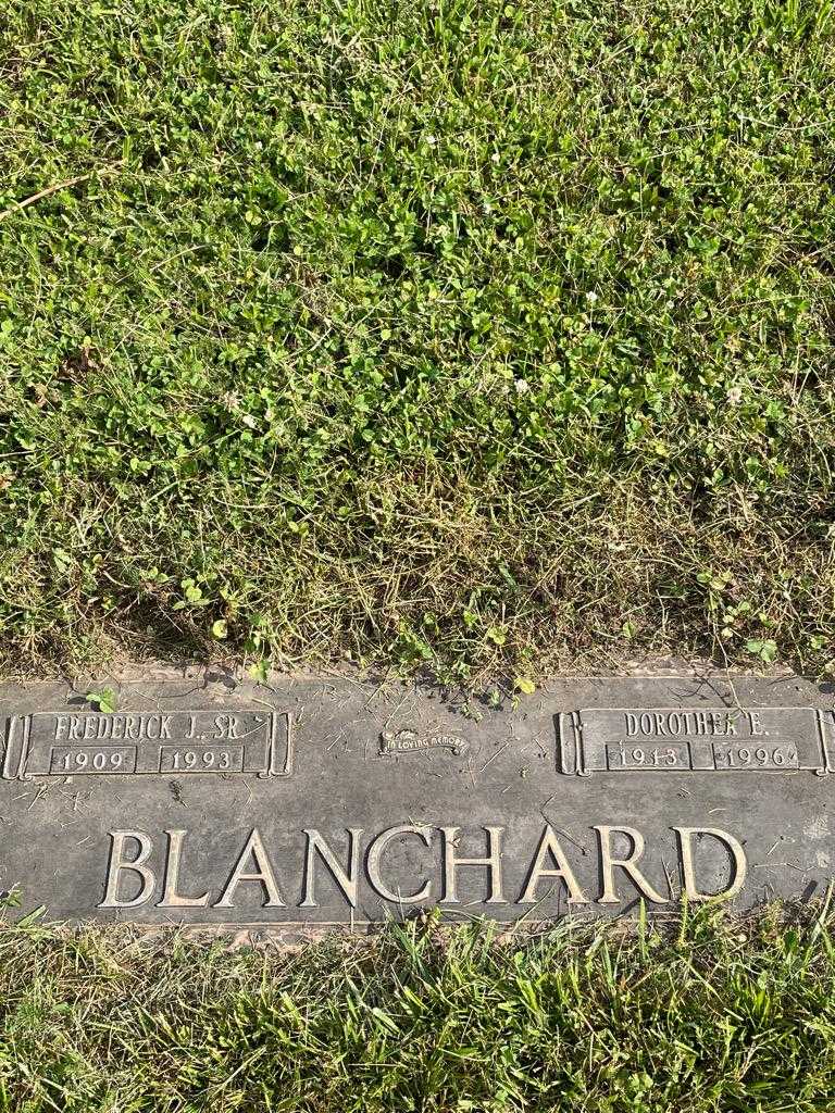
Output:
M14 1113L812 1113L835 1106L828 929L778 909L662 935L233 951L0 934Z

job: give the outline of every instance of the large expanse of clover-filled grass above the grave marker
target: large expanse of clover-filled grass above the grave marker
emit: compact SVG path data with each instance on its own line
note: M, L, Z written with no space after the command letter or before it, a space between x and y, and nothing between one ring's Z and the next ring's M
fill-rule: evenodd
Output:
M0 0L0 652L835 669L831 0Z

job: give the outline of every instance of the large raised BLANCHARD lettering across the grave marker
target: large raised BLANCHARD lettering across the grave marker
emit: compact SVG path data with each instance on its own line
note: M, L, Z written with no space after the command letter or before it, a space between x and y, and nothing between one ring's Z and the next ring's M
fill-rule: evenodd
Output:
M659 892L642 868L646 839L635 827L596 825L597 854L582 860L576 847L567 853L550 824L531 839L523 854L510 855L503 826L469 830L459 827L400 824L377 834L346 828L325 836L305 828L286 836L279 850L271 846L257 827L244 837L239 849L216 865L209 880L195 877L195 864L204 860L206 846L199 836L183 829L151 835L147 830L112 830L99 908L235 908L243 897L248 907L320 907L320 896L331 904L356 908L361 895L382 897L392 905L440 906L474 903L533 905L544 897L562 895L569 905L615 905L644 897L652 904L677 899L669 881L661 848L654 848L652 875L668 876L667 892ZM671 827L679 865L680 895L688 900L728 899L745 884L747 861L740 841L716 827ZM573 844L573 840L572 840ZM698 869L697 869L698 848ZM410 865L404 864L407 854ZM580 871L592 868L589 878ZM213 857L213 863L215 861ZM727 878L705 890L705 875ZM511 870L509 868L513 866ZM511 886L509 875L523 867L523 881ZM465 875L462 881L462 875ZM323 881L326 884L323 886ZM462 888L466 886L466 894ZM473 887L478 897L473 898Z

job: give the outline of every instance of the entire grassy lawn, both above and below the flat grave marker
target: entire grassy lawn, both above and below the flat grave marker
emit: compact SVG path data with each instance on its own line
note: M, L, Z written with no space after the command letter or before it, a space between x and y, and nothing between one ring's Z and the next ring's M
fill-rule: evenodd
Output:
M3 674L832 678L834 39L827 0L3 0ZM0 1109L831 1110L828 904L682 917L35 916Z

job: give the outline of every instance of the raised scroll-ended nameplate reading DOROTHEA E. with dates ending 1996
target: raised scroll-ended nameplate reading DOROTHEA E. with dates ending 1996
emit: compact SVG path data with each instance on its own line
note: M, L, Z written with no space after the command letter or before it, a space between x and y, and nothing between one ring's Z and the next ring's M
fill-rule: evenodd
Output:
M569 776L835 770L835 717L808 707L598 708L557 725Z

